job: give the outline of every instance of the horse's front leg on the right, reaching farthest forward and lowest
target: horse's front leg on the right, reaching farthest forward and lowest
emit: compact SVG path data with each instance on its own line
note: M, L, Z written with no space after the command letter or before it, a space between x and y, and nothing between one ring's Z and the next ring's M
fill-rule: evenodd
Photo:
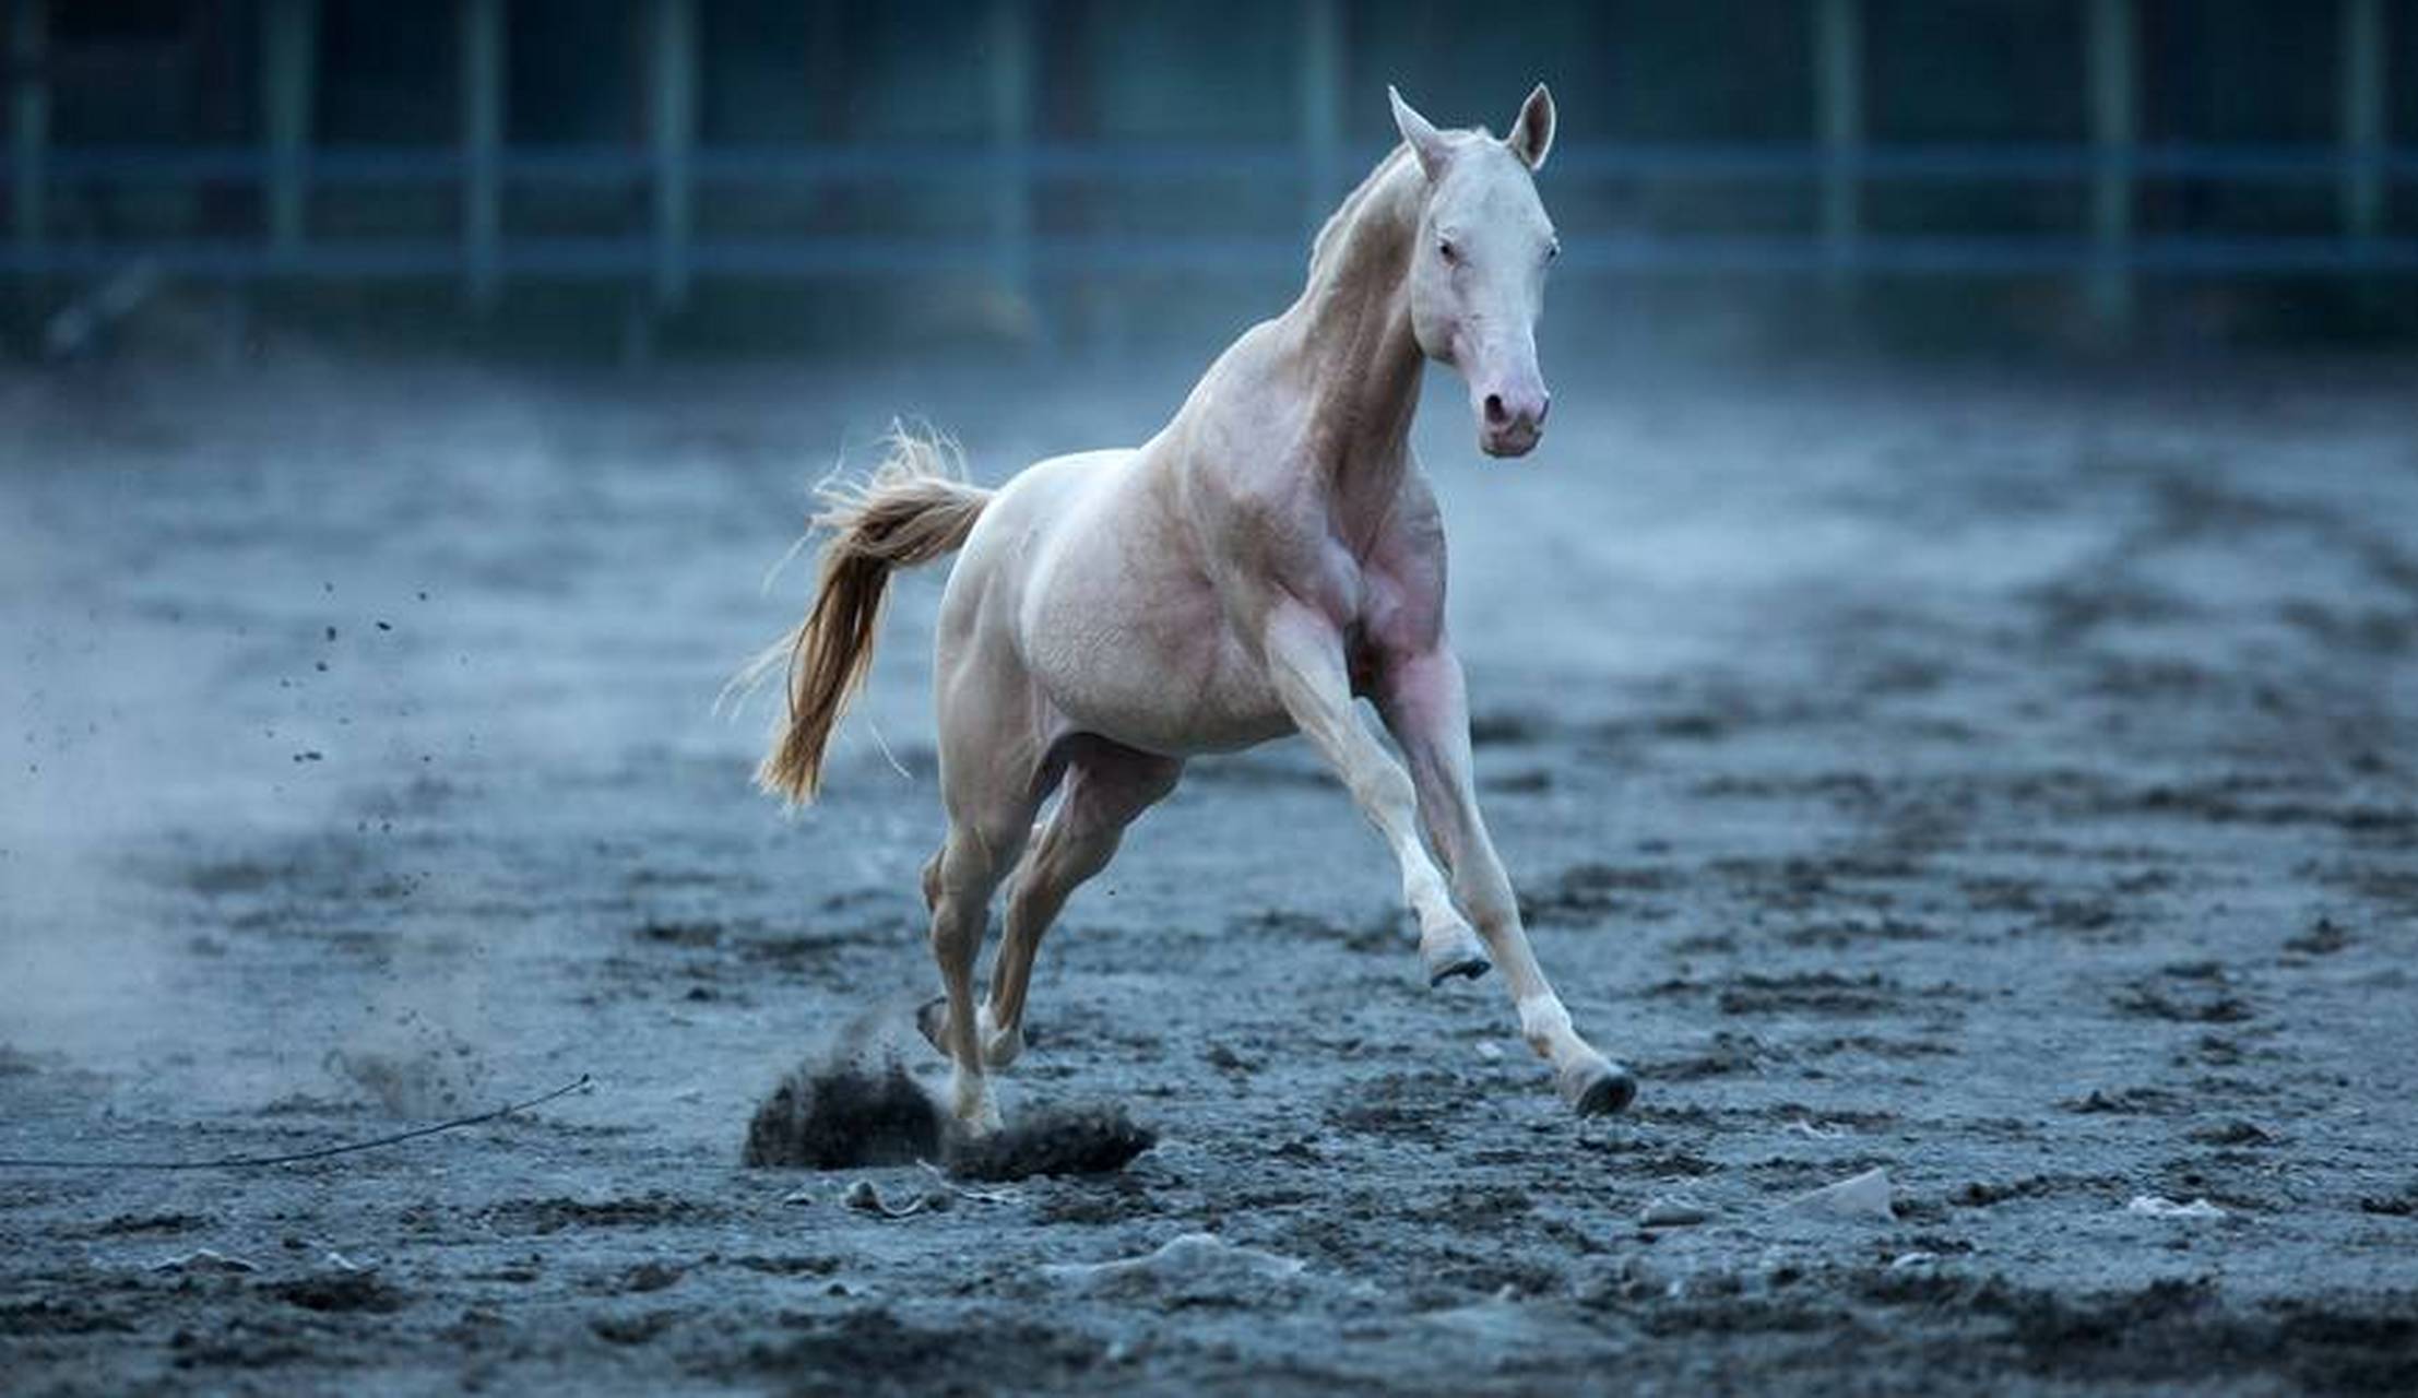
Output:
M1487 822L1477 813L1470 776L1470 706L1460 660L1441 643L1434 651L1388 660L1376 692L1378 714L1419 793L1427 834L1453 871L1460 907L1477 919L1480 936L1504 967L1519 1030L1528 1047L1555 1069L1555 1086L1579 1113L1618 1113L1637 1093L1630 1074L1596 1052L1569 1023L1562 996L1535 963L1528 931L1519 922L1511 878L1494 854Z

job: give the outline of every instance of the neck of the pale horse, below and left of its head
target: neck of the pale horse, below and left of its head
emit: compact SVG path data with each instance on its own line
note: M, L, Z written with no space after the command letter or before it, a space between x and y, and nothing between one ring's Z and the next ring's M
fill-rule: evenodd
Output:
M1311 462L1340 522L1361 520L1371 530L1393 508L1419 409L1407 285L1419 181L1417 164L1402 160L1354 193L1286 312L1308 392Z

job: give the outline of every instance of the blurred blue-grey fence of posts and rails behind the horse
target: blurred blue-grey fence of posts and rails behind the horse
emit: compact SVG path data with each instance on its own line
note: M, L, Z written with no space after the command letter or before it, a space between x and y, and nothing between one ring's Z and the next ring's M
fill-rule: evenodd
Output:
M1267 271L1298 266L1298 230L1282 235L1129 237L1037 232L1035 189L1049 181L1250 179L1289 181L1313 223L1344 179L1378 150L1342 140L1337 2L1308 0L1294 44L1301 131L1250 145L1049 143L1032 135L1035 24L1030 0L991 0L989 135L960 145L706 145L696 138L699 0L643 0L643 140L597 148L520 148L505 140L505 5L457 0L459 140L445 148L326 148L312 138L317 0L264 0L259 102L264 140L244 148L53 148L48 140L46 0L10 2L10 148L5 179L15 237L0 276L94 278L128 266L164 273L261 278L452 278L472 305L508 281L590 278L636 288L677 310L699 278L846 278L972 273L1030 295L1066 273ZM2188 276L2406 276L2418 237L2389 230L2391 193L2418 181L2418 148L2387 128L2384 0L2336 0L2341 121L2326 145L2145 145L2140 131L2140 15L2135 0L2084 0L2077 46L2089 138L2075 145L1874 145L1864 135L1862 0L1806 0L1816 111L1814 138L1780 145L1564 143L1557 181L1772 181L1814 189L1801 235L1574 237L1574 273L1859 276L2075 276L2108 322L2130 317L2138 278ZM2324 0L2312 0L2312 10ZM2157 181L2331 189L2336 230L2300 237L2147 235L2140 191ZM699 193L820 189L832 184L953 181L982 189L987 232L958 237L721 237L699 235ZM2070 235L1908 237L1869 227L1867 193L1884 184L2041 181L2084 191ZM89 242L53 235L46 208L68 186L249 186L266 208L251 239ZM590 186L643 198L643 232L602 237L515 235L508 189ZM452 237L314 237L314 191L452 191Z

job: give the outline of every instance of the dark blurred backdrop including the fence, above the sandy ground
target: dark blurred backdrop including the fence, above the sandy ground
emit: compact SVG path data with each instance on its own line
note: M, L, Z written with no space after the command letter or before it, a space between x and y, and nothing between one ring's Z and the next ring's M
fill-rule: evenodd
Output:
M1386 82L1502 126L1535 80L1562 111L1564 343L2418 331L2406 0L27 0L5 19L17 353L242 356L280 327L607 360L1182 346L1298 283L1315 218L1393 138ZM111 278L133 288L99 319L123 329L46 341Z

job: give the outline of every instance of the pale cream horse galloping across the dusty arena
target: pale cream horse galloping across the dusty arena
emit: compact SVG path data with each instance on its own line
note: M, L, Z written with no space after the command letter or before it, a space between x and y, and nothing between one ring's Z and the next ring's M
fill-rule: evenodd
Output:
M899 435L815 520L834 530L815 605L764 660L788 665L788 718L759 779L791 801L820 784L890 571L962 549L933 660L948 837L924 866L948 996L924 1030L955 1064L970 1132L999 1125L987 1074L1023 1047L1032 953L1066 895L1187 757L1284 733L1318 747L1393 847L1429 982L1502 965L1564 1101L1613 1113L1635 1093L1545 982L1477 815L1444 520L1410 455L1422 356L1468 380L1487 455L1523 455L1545 428L1535 317L1557 244L1533 172L1552 97L1531 92L1502 140L1436 131L1388 97L1402 145L1320 230L1301 300L1245 331L1156 438L1049 457L984 491L945 447ZM1376 701L1400 759L1354 697ZM1011 871L977 1001L974 958Z

